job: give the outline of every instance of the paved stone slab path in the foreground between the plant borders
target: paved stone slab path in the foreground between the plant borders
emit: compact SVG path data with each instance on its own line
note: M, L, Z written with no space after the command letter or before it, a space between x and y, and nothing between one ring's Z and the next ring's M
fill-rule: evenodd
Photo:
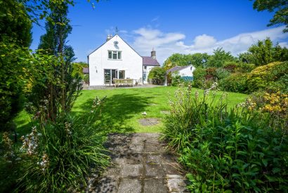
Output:
M158 133L110 135L113 166L89 192L187 192L175 157L157 138Z

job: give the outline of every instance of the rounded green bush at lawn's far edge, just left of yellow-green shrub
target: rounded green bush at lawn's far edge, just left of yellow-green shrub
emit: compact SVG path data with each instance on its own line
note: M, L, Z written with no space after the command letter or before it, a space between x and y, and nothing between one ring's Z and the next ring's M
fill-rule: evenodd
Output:
M234 73L219 81L222 91L244 93L247 91L247 74Z

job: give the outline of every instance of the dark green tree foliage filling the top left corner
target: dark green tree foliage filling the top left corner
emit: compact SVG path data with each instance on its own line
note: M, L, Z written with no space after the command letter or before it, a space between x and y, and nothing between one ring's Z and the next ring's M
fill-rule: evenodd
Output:
M18 45L29 47L32 41L32 22L25 6L15 0L0 0L0 41L14 39Z

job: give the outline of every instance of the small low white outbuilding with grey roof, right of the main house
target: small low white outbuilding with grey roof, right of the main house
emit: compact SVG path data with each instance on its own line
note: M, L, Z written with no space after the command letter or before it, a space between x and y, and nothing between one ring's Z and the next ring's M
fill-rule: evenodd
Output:
M167 84L167 75L171 73L171 76L181 76L181 79L185 81L193 80L193 72L196 68L193 65L188 66L176 66L166 71L165 85Z

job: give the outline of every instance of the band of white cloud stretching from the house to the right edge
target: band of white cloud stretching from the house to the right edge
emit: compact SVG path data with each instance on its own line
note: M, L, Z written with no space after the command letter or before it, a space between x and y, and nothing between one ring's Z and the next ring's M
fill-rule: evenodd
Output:
M217 41L214 36L202 34L196 36L192 45L185 44L185 34L178 32L164 33L159 29L142 27L133 31L133 48L140 55L150 55L152 48L157 51L157 60L162 63L173 53L213 53L218 47L237 55L247 51L249 46L258 40L270 37L273 42L279 42L280 46L287 46L288 34L283 34L284 26L272 29L264 29L258 32L238 34L229 39Z

